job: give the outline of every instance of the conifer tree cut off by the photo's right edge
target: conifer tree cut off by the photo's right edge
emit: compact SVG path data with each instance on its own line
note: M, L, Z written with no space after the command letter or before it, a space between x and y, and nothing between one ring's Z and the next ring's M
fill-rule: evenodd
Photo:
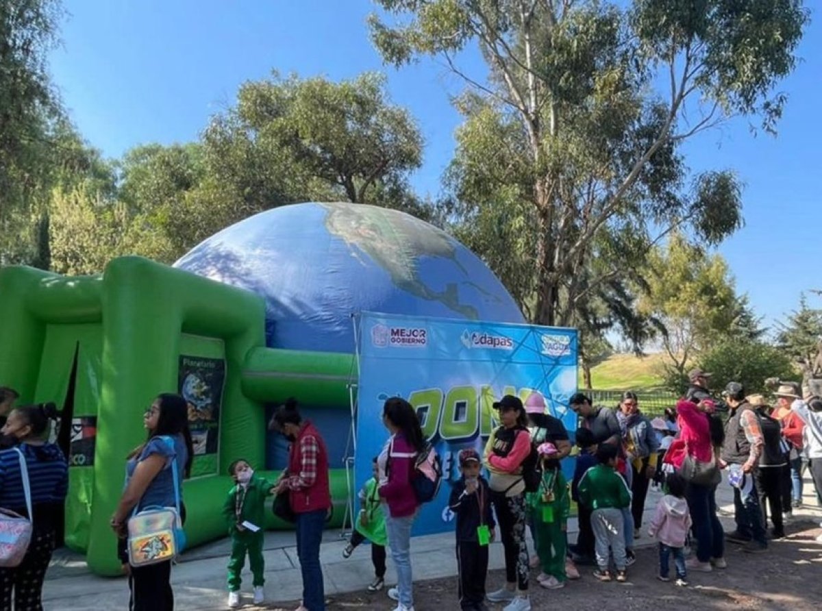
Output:
M822 309L810 308L803 294L799 309L777 328L777 345L797 363L804 380L822 377Z

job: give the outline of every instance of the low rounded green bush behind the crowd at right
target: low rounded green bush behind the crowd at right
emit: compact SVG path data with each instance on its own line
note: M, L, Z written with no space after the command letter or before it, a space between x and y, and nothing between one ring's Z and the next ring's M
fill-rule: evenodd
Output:
M713 373L713 389L721 390L727 382L741 382L749 394L767 392L765 380L769 377L790 380L797 375L783 349L742 338L718 341L700 355L697 363L704 371Z

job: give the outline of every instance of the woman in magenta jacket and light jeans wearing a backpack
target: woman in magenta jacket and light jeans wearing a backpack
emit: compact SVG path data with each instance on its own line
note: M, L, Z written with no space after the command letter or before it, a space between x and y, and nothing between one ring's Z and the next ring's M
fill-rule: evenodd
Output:
M388 595L398 602L395 611L413 611L411 527L417 516L419 502L411 479L417 455L423 451L425 438L417 412L407 400L397 396L386 400L383 405L382 422L391 437L376 459L379 474L377 493L388 505L388 547L397 571L397 587L388 590Z

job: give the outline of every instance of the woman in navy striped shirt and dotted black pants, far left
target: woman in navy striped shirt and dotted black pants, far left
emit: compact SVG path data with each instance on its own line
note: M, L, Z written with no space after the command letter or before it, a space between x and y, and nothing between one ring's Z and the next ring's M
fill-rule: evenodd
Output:
M18 445L0 451L0 507L29 517L33 532L20 566L0 568L0 609L12 609L12 593L16 611L43 609L43 581L68 488L66 457L56 444L48 443L48 425L57 417L53 403L22 405L8 414L2 427L3 436L12 437ZM30 516L20 470L21 453L29 472Z

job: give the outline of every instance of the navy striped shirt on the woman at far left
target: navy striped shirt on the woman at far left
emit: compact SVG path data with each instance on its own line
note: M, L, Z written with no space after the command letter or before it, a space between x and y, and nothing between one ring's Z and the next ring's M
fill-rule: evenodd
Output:
M29 471L31 504L65 502L68 488L68 465L60 448L53 443L32 446L21 443ZM0 451L0 507L25 515L25 493L20 473L20 455L16 450Z

